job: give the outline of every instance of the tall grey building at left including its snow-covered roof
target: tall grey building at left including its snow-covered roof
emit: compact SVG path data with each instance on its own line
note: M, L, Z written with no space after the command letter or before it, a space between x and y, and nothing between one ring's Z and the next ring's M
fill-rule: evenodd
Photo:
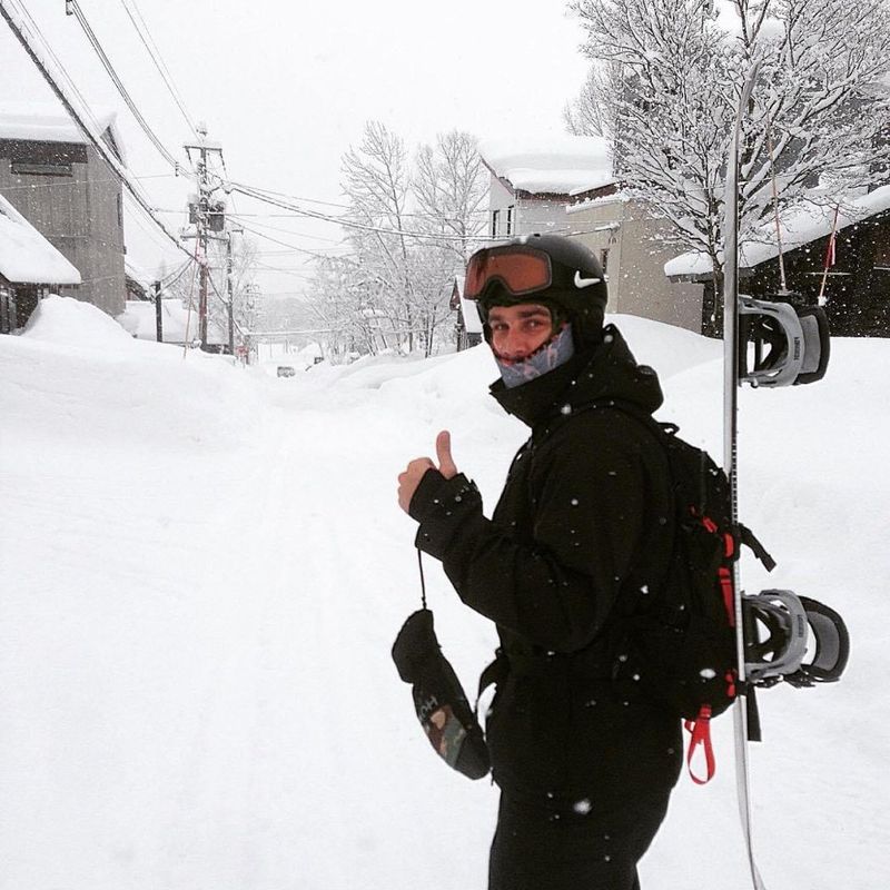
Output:
M115 115L98 120L125 160ZM123 312L123 202L118 176L61 110L0 105L0 194L80 273L60 288L115 316Z

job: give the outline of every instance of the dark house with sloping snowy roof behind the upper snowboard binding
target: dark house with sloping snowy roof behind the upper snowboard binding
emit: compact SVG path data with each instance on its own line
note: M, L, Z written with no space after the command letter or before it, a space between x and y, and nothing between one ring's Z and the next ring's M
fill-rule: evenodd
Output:
M779 233L787 289L804 305L824 305L833 335L890 337L890 185L839 205L795 207L782 215ZM779 240L774 226L764 225L742 245L742 293L768 299L780 293ZM706 255L683 254L664 273L696 283L705 315L713 315L719 300ZM721 320L710 333L720 332Z

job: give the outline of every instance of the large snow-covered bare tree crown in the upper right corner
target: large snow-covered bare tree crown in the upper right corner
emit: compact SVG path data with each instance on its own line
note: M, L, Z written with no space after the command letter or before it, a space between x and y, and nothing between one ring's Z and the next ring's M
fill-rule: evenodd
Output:
M780 208L837 202L890 162L886 0L575 0L591 72L570 129L606 135L631 195L681 249L720 267L726 148L761 65L741 156L741 233ZM882 134L883 128L883 134Z

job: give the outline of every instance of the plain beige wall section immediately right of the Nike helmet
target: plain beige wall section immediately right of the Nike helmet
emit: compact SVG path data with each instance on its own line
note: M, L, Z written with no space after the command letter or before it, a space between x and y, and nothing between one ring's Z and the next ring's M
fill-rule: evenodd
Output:
M573 230L584 233L581 240L605 259L609 312L701 332L701 286L674 284L664 275L664 264L675 251L653 238L665 224L649 218L639 204L617 197L574 210L568 219Z

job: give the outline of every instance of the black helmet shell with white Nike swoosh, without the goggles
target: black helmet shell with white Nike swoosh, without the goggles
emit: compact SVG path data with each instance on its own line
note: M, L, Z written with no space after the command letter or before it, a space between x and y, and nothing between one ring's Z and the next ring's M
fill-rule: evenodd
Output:
M486 340L491 342L488 310L492 306L511 306L541 299L544 304L555 304L560 314L568 318L577 348L600 343L609 291L603 267L593 251L576 239L563 235L523 235L504 244L484 247L474 256L485 251L507 253L511 247L517 246L535 248L547 255L551 284L541 290L517 296L497 278L493 278L476 298L479 316L485 325Z

